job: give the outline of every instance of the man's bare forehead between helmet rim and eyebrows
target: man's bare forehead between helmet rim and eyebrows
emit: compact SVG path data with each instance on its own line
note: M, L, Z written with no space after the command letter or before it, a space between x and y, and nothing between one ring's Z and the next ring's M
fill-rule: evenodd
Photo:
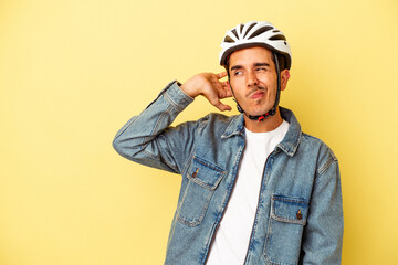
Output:
M262 46L247 47L233 52L229 59L229 65L245 65L254 63L269 63L272 62L272 52Z

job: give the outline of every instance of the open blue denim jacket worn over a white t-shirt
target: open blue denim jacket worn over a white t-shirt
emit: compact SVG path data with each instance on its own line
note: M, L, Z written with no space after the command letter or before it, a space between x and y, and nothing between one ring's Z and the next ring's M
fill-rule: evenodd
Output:
M193 98L170 83L122 127L114 148L133 161L182 176L165 264L205 264L233 190L244 149L243 116L209 114L170 127ZM338 162L293 113L264 165L244 264L341 264L343 208Z

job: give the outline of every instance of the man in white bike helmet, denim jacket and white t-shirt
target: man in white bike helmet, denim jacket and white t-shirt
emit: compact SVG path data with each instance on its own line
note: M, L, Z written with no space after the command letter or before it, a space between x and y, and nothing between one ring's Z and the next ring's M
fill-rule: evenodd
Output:
M339 264L337 159L277 106L292 62L285 36L251 21L221 47L226 73L170 83L114 139L123 157L182 174L165 264ZM233 96L242 114L170 127L198 95L220 110Z

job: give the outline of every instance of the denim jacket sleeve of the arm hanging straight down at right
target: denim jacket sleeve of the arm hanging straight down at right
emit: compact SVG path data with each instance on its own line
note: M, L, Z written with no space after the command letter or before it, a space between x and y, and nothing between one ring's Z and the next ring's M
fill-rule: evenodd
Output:
M338 161L333 153L329 153L327 161L320 167L313 187L300 264L341 264L343 230Z

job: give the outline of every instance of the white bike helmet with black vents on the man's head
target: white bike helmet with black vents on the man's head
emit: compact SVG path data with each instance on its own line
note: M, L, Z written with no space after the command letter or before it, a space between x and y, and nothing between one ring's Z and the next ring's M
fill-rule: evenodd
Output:
M263 46L283 55L285 67L291 68L292 52L284 34L266 21L249 21L228 30L221 42L220 65L226 66L231 53L252 46ZM281 65L282 66L282 65Z

